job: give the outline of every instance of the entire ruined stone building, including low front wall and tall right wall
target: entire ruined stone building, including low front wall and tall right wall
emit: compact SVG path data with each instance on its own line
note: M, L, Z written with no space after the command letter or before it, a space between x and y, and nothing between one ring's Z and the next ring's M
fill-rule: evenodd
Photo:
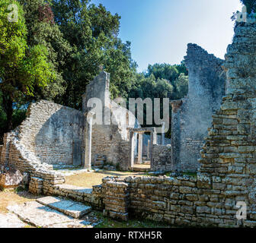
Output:
M94 114L85 106L85 112L78 112L46 101L34 103L21 126L5 134L1 164L27 172L30 191L35 194L88 203L114 219L136 215L175 226L256 227L255 60L255 23L236 23L225 62L189 45L185 61L190 89L187 98L171 103L173 132L169 146L157 144L155 128L139 128L136 122L123 128L128 111L109 99L109 76L102 72L89 84L84 104L90 98L90 89L94 92L97 84L104 84L93 96L104 100L105 114L113 113L122 122L97 129L90 122ZM102 144L93 129L103 137ZM136 134L141 138L145 132L151 133L152 169L182 169L186 164L194 168L194 161L197 165L200 157L197 175L104 178L101 185L88 190L65 185L64 176L53 170L58 163L82 161L85 167L90 166L90 150L93 156L119 153L117 156L125 158L128 154L128 159L120 160L121 166L132 169ZM237 215L238 202L246 205L246 219Z

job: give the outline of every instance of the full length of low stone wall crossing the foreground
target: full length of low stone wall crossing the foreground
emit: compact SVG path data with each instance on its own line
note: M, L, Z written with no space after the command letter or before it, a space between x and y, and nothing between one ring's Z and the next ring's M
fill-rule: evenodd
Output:
M30 192L91 204L113 219L139 217L175 226L255 227L256 213L251 208L246 220L236 219L235 202L245 200L248 191L231 191L229 181L230 178L200 174L104 178L102 185L88 189L31 178ZM233 187L238 184L239 181L232 182Z

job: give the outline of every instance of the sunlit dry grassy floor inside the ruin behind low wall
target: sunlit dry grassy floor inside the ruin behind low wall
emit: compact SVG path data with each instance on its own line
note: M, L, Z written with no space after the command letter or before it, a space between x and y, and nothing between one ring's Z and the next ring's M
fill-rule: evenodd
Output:
M143 176L146 173L142 172L110 172L110 171L102 171L102 172L85 172L78 175L70 175L66 176L66 184L75 185L83 188L92 188L93 185L101 185L102 178L107 176Z

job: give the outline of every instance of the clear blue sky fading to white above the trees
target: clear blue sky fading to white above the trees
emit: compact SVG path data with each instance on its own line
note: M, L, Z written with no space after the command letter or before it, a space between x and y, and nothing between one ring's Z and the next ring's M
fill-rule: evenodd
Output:
M138 71L149 64L178 64L187 43L196 43L224 58L232 42L232 12L241 11L239 0L93 0L119 14L120 38L132 43Z

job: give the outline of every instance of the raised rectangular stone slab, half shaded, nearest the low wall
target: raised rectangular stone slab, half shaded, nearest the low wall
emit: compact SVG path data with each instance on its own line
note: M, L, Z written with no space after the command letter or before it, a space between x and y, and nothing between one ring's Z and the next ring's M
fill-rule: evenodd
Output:
M38 198L37 202L45 206L53 208L75 219L79 219L87 213L91 213L91 207L75 202L73 200L66 200L59 197L42 197Z

